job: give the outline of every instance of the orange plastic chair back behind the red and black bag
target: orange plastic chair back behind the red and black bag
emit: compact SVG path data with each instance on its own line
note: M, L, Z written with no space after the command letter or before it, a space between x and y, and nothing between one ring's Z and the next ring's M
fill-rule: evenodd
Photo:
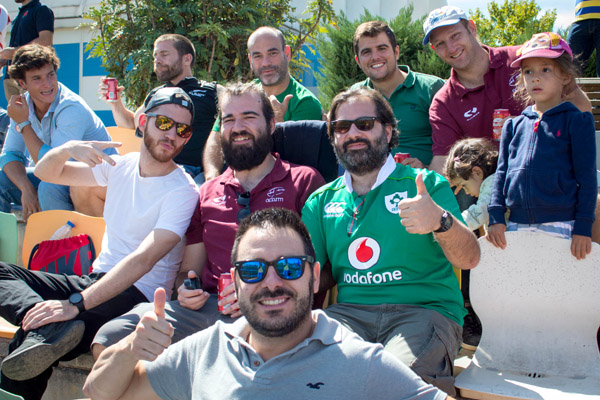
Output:
M28 267L31 249L41 241L48 240L58 228L71 221L75 227L72 235L87 233L94 242L96 255L102 248L102 237L106 224L104 218L90 217L75 211L48 210L32 214L27 220L25 237L23 238L23 265Z

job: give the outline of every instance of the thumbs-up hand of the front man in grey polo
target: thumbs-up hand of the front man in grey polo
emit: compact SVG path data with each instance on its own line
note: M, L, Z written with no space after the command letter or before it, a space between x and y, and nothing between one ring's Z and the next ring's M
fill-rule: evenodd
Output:
M166 320L165 289L154 292L154 310L148 311L130 335L131 352L139 359L154 361L169 345L173 336L173 326Z

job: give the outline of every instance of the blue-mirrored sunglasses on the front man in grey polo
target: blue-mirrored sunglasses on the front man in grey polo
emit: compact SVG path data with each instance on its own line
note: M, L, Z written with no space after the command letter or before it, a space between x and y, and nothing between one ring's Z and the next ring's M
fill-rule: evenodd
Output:
M281 257L275 261L265 260L246 260L233 263L240 275L240 279L245 283L258 283L265 279L269 267L275 268L277 275L283 280L293 281L299 279L304 274L304 265L308 261L314 262L312 256L289 256Z

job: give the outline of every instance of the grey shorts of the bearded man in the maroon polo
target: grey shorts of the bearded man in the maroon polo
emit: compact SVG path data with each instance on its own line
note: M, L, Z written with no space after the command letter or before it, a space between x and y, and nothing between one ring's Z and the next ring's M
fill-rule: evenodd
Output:
M108 347L117 343L125 336L135 330L142 316L154 310L154 304L141 303L126 314L117 317L100 328L94 337L93 344L101 344ZM179 305L179 301L173 300L165 305L167 321L173 325L174 334L172 342L181 339L212 326L217 321L233 322L235 319L221 314L217 309L217 295L211 294L204 306L199 310L190 310Z

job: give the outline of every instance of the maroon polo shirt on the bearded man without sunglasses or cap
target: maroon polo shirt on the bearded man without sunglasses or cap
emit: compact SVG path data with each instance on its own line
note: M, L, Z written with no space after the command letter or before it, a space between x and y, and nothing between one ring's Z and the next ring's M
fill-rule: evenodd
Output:
M325 184L323 177L311 167L283 161L277 153L273 170L250 191L250 210L283 207L300 214L304 202ZM221 176L200 186L200 201L186 233L188 245L204 242L207 262L202 270L202 286L217 292L217 278L231 269L231 248L238 228L237 203L244 188L228 168Z

